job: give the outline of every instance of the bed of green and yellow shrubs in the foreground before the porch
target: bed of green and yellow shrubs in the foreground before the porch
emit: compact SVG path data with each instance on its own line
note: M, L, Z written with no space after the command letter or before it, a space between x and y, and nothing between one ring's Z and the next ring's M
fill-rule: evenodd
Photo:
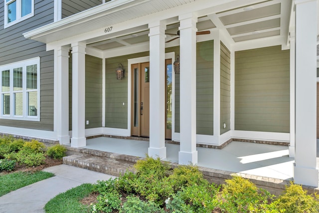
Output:
M71 213L73 210L68 205L72 203L72 209L78 208L75 212L90 213L319 212L319 197L308 195L294 183L275 198L238 176L224 185L210 184L195 166L178 166L171 170L160 159L146 157L136 163L135 169L136 173L127 172L93 186L83 185L85 190L74 188L58 195L45 210L47 213Z

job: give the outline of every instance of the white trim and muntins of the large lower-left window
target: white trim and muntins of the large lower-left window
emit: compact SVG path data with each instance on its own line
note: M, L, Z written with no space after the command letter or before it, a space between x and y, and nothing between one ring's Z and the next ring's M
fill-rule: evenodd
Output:
M37 89L26 90L26 66L28 65L37 65ZM22 116L14 115L14 103L13 103L13 69L17 67L22 67L22 106L23 112ZM3 115L3 100L2 100L2 71L10 70L10 115ZM27 92L37 91L37 115L28 116L28 103L27 103ZM23 121L40 121L40 57L35 57L15 63L6 64L0 66L0 119L9 119L9 120L23 120Z

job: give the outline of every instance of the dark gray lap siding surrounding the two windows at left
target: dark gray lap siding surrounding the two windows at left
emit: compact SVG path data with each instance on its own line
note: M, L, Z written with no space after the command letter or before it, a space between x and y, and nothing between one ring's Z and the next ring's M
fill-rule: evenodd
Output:
M53 51L45 44L25 39L22 33L53 22L53 1L35 0L34 16L4 29L4 4L0 3L0 65L40 56L40 121L0 119L0 125L53 131Z

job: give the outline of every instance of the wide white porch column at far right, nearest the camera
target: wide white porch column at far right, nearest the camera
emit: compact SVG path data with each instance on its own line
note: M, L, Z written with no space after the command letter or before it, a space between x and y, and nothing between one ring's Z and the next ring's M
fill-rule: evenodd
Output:
M318 187L316 169L317 0L296 0L295 183Z

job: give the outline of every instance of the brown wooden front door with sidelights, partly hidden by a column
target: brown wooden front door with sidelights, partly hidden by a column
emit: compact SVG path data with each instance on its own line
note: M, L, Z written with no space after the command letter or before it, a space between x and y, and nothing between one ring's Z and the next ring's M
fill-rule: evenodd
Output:
M132 64L132 135L150 136L150 62ZM164 70L163 70L164 71ZM171 139L171 59L165 60L165 138Z

